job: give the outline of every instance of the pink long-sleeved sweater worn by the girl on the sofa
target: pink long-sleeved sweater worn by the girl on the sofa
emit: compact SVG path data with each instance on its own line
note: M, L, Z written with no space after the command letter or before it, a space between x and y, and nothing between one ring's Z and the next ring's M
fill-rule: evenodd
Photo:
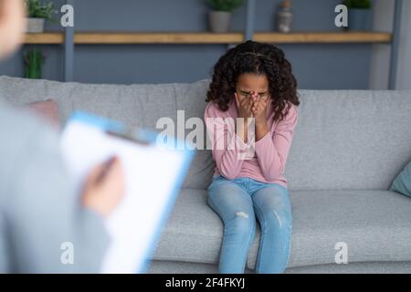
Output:
M212 141L213 157L216 161L216 175L222 175L228 180L238 177L249 177L262 183L279 183L287 187L287 180L284 178L284 171L287 157L290 151L294 129L297 125L297 108L292 106L284 120L274 123L274 112L271 104L268 111L269 133L259 141L255 142L253 157L244 160L238 159L241 153L249 151L251 144L244 143L235 135L230 135L227 124L224 126L224 133L221 137L216 137L216 129L222 126L221 122L210 118L232 118L237 119L237 105L232 100L227 111L219 110L214 102L210 102L205 109L205 123L208 134L213 132ZM220 119L221 120L221 119ZM211 137L210 137L211 138ZM220 139L224 139L224 147L221 147ZM219 150L217 149L217 143ZM231 145L228 147L227 145Z

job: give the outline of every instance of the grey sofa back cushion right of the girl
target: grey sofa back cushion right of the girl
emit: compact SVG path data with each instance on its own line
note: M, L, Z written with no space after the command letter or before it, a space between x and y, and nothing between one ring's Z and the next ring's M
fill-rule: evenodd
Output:
M388 190L411 160L411 91L300 90L290 190Z

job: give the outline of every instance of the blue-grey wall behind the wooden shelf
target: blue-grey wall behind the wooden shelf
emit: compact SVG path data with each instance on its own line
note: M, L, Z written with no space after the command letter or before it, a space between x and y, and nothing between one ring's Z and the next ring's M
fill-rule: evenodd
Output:
M56 0L57 5L63 1ZM337 30L334 7L341 0L294 0L295 30ZM256 30L272 31L279 0L257 0ZM77 0L77 31L204 31L204 0ZM245 26L245 8L232 29ZM59 29L48 26L49 30ZM301 89L368 89L372 45L285 45ZM77 46L75 80L93 83L190 82L209 78L227 46ZM45 46L44 78L63 78L62 47ZM20 55L0 65L0 74L22 76Z

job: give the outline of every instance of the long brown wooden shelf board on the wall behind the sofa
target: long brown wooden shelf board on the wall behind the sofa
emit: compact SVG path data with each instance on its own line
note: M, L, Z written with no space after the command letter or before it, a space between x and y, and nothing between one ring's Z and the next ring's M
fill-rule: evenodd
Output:
M273 44L342 44L389 43L390 33L382 32L295 32L290 34L256 33L255 40ZM138 45L138 44L239 44L242 33L76 33L78 45ZM25 44L64 43L62 33L26 34Z

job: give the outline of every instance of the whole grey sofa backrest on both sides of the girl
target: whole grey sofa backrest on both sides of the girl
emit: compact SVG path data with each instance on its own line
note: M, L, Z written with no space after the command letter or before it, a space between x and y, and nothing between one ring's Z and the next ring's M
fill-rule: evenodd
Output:
M164 117L177 124L177 110L184 110L184 120L203 119L208 84L90 85L1 77L0 94L16 105L55 99L61 122L73 110L87 110L155 130ZM286 171L290 190L384 190L411 160L411 91L300 90L300 100ZM184 187L205 189L213 169L210 151L197 151Z

